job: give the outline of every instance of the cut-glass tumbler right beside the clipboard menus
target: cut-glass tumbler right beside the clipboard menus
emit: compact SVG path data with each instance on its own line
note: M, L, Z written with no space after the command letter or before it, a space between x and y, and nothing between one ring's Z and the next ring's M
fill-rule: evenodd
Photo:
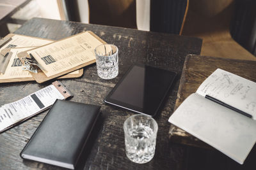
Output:
M100 78L111 79L118 75L118 48L115 45L99 45L95 48L97 73Z

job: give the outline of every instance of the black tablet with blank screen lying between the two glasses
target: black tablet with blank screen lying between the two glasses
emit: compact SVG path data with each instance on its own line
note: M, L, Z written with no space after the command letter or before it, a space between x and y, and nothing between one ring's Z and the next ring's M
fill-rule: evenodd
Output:
M104 101L154 117L175 76L176 73L172 71L136 64L129 68Z

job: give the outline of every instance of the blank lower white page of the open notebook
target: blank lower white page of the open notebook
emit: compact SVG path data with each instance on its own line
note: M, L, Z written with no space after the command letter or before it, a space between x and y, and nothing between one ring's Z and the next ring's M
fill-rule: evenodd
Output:
M191 94L168 120L243 164L256 141L256 121Z

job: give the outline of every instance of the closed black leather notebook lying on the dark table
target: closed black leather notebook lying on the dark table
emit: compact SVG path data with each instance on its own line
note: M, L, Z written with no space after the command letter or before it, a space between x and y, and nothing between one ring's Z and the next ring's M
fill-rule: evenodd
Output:
M56 100L20 157L74 169L99 114L100 106Z

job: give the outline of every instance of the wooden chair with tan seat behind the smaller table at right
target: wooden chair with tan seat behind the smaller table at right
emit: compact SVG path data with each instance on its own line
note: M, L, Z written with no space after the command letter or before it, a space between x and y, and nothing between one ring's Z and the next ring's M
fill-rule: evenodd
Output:
M256 60L230 35L233 0L190 0L182 35L203 39L201 55Z

